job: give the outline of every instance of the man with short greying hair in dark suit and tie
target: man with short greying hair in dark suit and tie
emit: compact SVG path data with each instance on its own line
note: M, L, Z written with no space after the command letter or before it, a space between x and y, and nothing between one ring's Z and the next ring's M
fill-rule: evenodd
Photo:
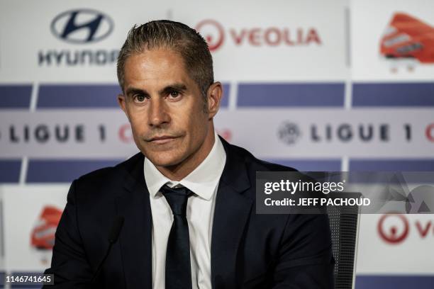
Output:
M58 288L333 288L326 215L255 213L256 171L294 169L216 135L222 86L198 33L134 27L118 79L140 152L72 183L45 271Z

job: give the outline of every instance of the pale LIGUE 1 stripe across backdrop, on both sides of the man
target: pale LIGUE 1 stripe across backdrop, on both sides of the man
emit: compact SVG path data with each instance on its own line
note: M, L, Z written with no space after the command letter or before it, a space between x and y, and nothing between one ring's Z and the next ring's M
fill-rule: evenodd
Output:
M216 129L263 159L434 155L430 109L222 110ZM138 152L120 109L4 111L0 145L2 158L125 159Z

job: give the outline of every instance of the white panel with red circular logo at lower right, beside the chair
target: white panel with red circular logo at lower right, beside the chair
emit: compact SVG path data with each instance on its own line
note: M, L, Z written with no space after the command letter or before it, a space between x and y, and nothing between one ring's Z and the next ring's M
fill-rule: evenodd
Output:
M433 246L433 214L360 215L357 275L434 275Z

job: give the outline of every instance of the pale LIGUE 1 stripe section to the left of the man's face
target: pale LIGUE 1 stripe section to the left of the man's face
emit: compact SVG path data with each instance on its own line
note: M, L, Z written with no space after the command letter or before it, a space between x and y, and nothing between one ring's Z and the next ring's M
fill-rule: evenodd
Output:
M138 152L119 108L4 111L1 118L1 157L124 159Z

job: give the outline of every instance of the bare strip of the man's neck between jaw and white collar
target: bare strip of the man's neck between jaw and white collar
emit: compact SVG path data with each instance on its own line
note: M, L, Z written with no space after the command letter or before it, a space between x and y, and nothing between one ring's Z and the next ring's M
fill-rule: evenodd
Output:
M184 161L174 166L156 167L158 171L160 171L160 173L168 179L171 179L172 181L181 181L186 176L188 176L191 171L194 171L194 169L196 169L196 167L198 167L201 162L204 162L204 159L206 159L209 152L211 152L215 141L216 140L214 137L214 127L213 123L211 123L210 129L208 130L208 135L206 135L204 142L199 147L199 149L196 150L196 152L187 157L187 159L184 159Z

